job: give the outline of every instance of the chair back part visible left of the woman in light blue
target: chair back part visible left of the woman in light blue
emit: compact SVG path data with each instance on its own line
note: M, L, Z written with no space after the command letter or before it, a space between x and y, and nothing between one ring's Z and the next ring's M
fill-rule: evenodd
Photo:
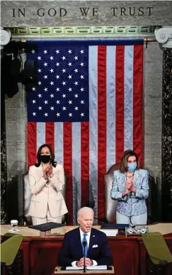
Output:
M114 164L108 170L108 173L104 175L105 177L105 217L108 223L116 223L116 208L117 201L110 198L110 190L113 186L113 171L119 170L120 164Z

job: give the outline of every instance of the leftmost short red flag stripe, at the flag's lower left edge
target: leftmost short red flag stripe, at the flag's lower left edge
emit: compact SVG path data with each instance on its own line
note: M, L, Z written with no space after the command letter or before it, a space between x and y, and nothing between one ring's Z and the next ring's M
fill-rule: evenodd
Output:
M28 168L37 161L37 123L28 122Z

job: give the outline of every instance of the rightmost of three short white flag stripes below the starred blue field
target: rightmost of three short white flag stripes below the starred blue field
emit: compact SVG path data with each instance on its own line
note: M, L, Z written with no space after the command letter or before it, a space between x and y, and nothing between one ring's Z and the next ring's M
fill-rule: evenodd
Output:
M81 208L81 123L72 123L72 186L73 222L77 221L77 211Z

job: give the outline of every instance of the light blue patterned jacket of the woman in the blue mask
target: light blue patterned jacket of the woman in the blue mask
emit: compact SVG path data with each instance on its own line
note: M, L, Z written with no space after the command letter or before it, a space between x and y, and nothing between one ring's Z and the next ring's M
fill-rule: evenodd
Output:
M121 173L119 170L113 173L113 186L110 191L110 197L118 201L117 212L129 217L133 215L142 215L147 212L145 200L149 196L149 173L147 170L139 169L134 171L134 187L136 193L130 192L122 197L125 191L126 173Z

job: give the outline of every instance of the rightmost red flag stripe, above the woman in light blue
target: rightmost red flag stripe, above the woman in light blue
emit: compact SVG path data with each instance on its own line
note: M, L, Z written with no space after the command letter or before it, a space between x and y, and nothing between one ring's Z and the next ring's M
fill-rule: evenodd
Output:
M134 46L133 58L133 150L143 165L143 117L142 117L142 89L143 89L143 45Z

